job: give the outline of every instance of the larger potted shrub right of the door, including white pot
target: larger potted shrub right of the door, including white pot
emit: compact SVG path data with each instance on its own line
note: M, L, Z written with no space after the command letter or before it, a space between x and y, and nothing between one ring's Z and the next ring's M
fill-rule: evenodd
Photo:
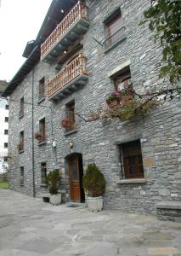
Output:
M99 212L103 208L103 197L105 193L105 177L95 164L88 165L83 177L83 187L88 195L88 208L92 212Z

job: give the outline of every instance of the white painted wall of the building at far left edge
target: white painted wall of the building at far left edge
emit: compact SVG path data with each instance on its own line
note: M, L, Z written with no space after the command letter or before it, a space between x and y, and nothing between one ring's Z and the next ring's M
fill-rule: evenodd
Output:
M8 130L8 123L5 122L5 117L8 117L6 105L8 105L8 101L0 98L0 173L6 169L3 166L8 166L3 161L3 157L8 155L8 148L4 148L4 143L8 143L8 135L4 134L4 130Z

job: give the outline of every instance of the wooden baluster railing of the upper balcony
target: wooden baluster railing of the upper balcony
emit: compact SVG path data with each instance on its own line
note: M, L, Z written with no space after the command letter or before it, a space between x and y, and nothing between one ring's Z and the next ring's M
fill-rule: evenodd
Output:
M76 23L76 20L79 20L80 18L88 20L88 7L83 3L77 3L76 6L71 9L70 13L65 16L64 20L62 20L54 29L54 32L52 32L47 40L41 45L41 59L43 59L44 55L53 48L54 44L59 42L59 38L61 38L65 32Z

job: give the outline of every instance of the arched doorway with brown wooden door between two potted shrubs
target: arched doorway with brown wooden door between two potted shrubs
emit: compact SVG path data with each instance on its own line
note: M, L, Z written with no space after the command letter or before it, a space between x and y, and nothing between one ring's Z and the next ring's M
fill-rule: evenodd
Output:
M71 154L67 157L71 201L84 202L85 194L82 186L83 166L82 154Z

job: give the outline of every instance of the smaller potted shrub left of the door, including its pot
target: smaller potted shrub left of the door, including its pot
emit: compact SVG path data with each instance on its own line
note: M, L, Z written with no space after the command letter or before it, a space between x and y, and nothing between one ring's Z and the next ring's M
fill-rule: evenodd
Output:
M45 183L48 185L50 198L49 201L52 205L57 206L61 203L61 194L59 194L60 175L59 170L54 170L48 173Z

